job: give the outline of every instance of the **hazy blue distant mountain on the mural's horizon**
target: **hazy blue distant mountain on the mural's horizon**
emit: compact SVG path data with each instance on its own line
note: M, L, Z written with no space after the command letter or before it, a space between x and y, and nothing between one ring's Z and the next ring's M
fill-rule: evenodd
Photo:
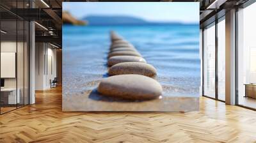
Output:
M179 22L150 22L138 17L130 16L106 16L106 15L90 15L84 17L88 25L92 26L115 26L115 25L165 25L165 24L180 24Z

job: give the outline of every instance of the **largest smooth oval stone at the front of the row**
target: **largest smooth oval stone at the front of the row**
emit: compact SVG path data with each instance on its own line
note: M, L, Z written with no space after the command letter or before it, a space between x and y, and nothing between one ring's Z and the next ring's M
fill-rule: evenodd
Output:
M103 79L98 87L102 96L126 100L152 100L162 94L162 87L156 80L143 75L115 75Z

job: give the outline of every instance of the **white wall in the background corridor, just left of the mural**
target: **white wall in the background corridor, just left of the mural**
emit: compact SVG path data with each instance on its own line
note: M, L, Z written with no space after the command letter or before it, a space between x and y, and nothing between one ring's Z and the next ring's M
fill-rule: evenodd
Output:
M54 77L56 77L56 49L49 43L36 43L35 89L51 88L50 80Z

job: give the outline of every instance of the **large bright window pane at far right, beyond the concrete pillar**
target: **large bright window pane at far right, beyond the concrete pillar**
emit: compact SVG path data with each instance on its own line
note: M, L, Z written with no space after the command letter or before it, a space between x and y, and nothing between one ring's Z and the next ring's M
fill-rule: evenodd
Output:
M238 104L256 109L256 3L238 11Z

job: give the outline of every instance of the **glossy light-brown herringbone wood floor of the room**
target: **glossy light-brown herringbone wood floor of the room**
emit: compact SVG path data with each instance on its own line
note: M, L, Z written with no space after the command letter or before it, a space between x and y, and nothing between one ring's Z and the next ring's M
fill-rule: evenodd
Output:
M61 112L61 88L0 116L0 142L256 142L256 112L200 98L200 111Z

